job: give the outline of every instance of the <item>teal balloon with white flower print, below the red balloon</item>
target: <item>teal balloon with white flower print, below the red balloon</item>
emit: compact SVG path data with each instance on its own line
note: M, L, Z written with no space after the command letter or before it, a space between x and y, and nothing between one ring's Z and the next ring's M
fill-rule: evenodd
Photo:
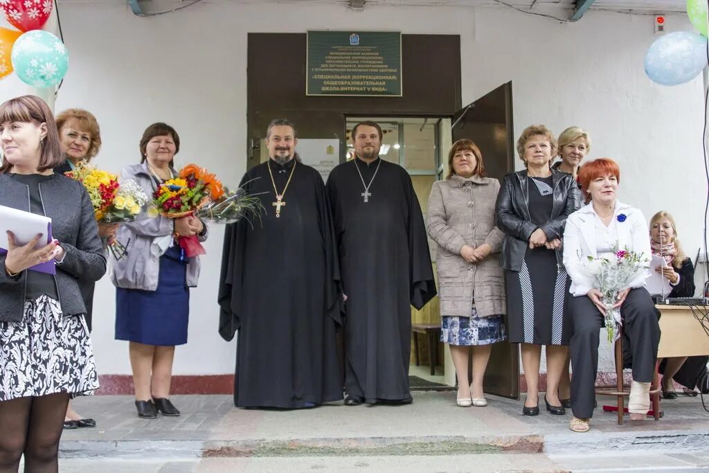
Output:
M28 31L17 38L10 60L22 82L39 89L59 84L69 68L67 47L44 30Z

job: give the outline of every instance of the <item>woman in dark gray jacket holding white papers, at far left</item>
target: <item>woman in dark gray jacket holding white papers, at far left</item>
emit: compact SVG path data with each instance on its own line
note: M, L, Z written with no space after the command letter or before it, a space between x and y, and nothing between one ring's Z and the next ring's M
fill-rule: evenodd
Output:
M97 281L106 259L86 189L52 171L63 157L47 104L36 96L2 104L0 146L0 205L50 217L54 238L21 245L3 235L0 471L17 471L23 455L26 472L57 471L69 397L99 387L78 277Z

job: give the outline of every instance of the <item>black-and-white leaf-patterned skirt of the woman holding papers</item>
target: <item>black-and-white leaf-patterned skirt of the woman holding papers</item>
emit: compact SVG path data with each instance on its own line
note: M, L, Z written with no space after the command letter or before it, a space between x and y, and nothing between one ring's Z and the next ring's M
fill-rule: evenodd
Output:
M59 301L43 294L25 301L21 322L0 322L0 401L98 388L84 316L65 317Z

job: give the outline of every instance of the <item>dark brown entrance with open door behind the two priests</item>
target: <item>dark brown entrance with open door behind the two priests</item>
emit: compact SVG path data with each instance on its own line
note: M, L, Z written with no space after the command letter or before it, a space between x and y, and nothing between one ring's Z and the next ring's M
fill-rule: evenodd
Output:
M326 179L329 169L347 159L347 123L376 117L374 120L379 123L391 122L384 135L384 144L391 145L391 149L384 158L398 161L409 171L423 211L432 183L447 174L447 152L457 138L472 138L478 143L491 177L500 178L513 170L511 84L461 108L459 35L401 36L401 97L308 96L303 69L305 32L248 33L247 41L247 167L267 159L263 138L268 123L285 117L298 127L297 150L303 162L315 166ZM279 67L287 74L273 74L272 62L264 60L274 51L279 52ZM431 249L435 255L435 246ZM420 313L414 312L413 320L426 317L439 322L437 304L434 299ZM422 315L425 311L428 314ZM417 336L420 365L425 373L428 337ZM435 376L454 386L449 350L438 345L440 366L436 367ZM487 370L486 391L518 396L518 369L516 348L498 344Z

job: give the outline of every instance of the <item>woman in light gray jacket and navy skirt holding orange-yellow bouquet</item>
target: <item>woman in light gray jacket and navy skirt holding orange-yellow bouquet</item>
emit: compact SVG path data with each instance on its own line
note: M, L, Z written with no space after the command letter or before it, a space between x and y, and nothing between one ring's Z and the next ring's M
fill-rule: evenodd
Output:
M140 165L128 166L121 182L138 182L152 195L174 179L177 132L165 123L148 126L140 140ZM118 204L130 205L130 201ZM116 340L128 340L138 417L179 416L169 401L175 345L187 343L189 288L197 285L199 257L186 257L177 236L206 240L207 228L194 216L167 218L143 211L118 229L126 254L113 264Z

